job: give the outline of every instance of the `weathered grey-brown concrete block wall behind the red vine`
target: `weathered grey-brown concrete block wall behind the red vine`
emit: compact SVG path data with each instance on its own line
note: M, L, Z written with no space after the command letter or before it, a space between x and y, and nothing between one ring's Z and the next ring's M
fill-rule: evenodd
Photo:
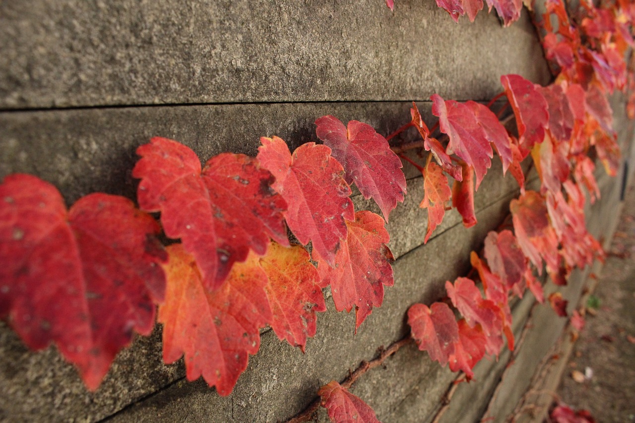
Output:
M313 122L324 114L357 119L387 135L410 120L412 100L424 119L434 121L432 93L485 101L501 91L499 78L509 73L549 83L526 11L505 29L495 14L483 12L473 24L462 18L457 25L431 0L399 0L394 12L383 0L5 1L0 46L0 177L38 175L69 205L94 191L134 199L135 149L153 136L179 140L203 161L224 151L255 155L261 136L282 137L291 149L315 141ZM615 101L617 110L623 99ZM620 138L630 140L632 127L617 117ZM403 337L408 307L445 295L445 281L467 272L471 250L481 247L518 196L516 182L502 178L495 158L476 195L478 225L465 229L451 211L424 246L422 178L407 163L404 171L408 195L387 225L397 258L395 284L356 335L354 316L336 312L328 299L306 354L264 330L260 351L234 392L222 398L202 380L187 382L182 363L163 365L159 325L122 351L90 393L54 347L30 352L0 323L0 419L292 417L319 386L344 379L378 347ZM608 236L601 222L613 218L620 181L601 178L604 199L590 210L598 236ZM354 203L378 211L359 195ZM515 305L517 334L532 309L531 295ZM500 382L509 351L480 363L476 380L458 388L445 421L475 421L485 413L498 420L514 410L564 325L554 324L547 307L534 310L542 310L531 312L535 339L514 352L517 372ZM426 422L454 377L411 345L364 375L352 392L382 421ZM318 419L326 421L326 414Z

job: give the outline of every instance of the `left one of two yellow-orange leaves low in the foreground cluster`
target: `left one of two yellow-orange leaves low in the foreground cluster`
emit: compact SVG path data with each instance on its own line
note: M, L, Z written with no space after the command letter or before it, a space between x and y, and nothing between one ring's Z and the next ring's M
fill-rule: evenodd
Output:
M220 289L211 291L183 245L169 246L168 253L166 299L158 317L163 361L173 363L184 355L187 380L203 376L227 396L247 368L248 354L258 352L258 329L272 319L267 275L258 256L250 253L245 262L234 264Z

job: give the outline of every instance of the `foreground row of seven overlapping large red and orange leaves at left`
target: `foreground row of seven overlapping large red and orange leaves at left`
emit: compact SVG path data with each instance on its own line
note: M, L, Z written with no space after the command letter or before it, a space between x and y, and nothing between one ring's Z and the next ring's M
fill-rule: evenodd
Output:
M392 286L394 258L384 219L356 213L349 184L387 220L406 181L367 124L345 128L333 116L316 124L324 145L291 154L280 138L262 138L255 158L222 153L203 167L189 147L152 138L133 169L138 209L90 194L67 211L47 182L6 177L0 316L33 349L57 344L97 389L133 334L149 335L158 304L164 361L185 356L187 379L203 376L221 395L258 351L260 328L304 352L316 312L326 311L326 286L338 311L355 308L357 330ZM312 256L290 245L287 227L312 243ZM161 228L180 242L163 248Z

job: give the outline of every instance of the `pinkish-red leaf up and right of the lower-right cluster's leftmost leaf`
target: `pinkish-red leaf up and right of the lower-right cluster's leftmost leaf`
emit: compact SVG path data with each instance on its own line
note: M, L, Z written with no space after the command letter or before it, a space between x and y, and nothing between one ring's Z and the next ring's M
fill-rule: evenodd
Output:
M482 328L480 332L487 337L483 340L483 352L487 349L488 354L498 355L503 345L504 326L500 307L492 300L484 299L474 281L469 278L457 278L453 284L446 281L445 290L467 325Z

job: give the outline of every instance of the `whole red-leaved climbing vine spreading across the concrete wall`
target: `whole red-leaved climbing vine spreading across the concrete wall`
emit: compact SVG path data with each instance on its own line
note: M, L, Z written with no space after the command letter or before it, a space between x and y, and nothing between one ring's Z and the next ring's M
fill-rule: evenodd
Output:
M483 8L481 0L437 3L454 20L464 13L474 20ZM488 5L505 25L518 19L522 6ZM514 348L512 297L529 289L543 302L538 276L565 285L572 269L603 258L585 228L584 205L587 194L592 202L599 197L591 158L609 175L620 163L606 95L635 85L625 61L634 44L635 6L582 1L571 13L561 0L545 6L542 17L532 17L553 83L542 87L504 75L502 93L488 105L433 94L438 122L432 128L414 103L410 121L387 137L359 121L345 125L323 116L316 120L323 144L291 152L281 138L263 137L256 157L226 152L204 166L185 145L152 138L137 149L138 207L94 193L67 210L53 185L9 175L0 185L0 317L32 349L55 343L91 390L117 352L135 333L149 335L157 319L165 363L184 356L187 379L202 376L228 395L258 351L260 328L271 326L304 351L318 312L326 311L324 288L338 311L355 310L356 328L382 305L384 287L394 283L384 222L406 194L399 156L424 178L427 243L449 208L466 227L477 223L474 192L496 152L521 189L510 204L511 224L488 234L483 253L472 252L474 271L447 281L446 299L408 310L419 348L471 379L483 356L498 356L505 341ZM500 121L509 107L517 131ZM634 97L628 111L635 113ZM420 140L399 144L409 128ZM417 163L401 155L407 149L429 154ZM525 189L521 163L528 156L539 191ZM383 217L354 210L352 184L373 198ZM160 213L158 220L150 213ZM158 241L161 233L172 240L169 246ZM549 302L566 315L558 295ZM378 421L347 391L352 382L332 381L319 390L329 416Z

